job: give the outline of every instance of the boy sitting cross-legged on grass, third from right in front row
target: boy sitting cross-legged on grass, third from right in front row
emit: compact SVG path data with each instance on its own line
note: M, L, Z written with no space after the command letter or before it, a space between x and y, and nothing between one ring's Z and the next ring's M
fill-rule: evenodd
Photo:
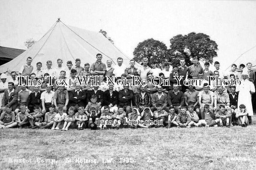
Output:
M204 105L204 111L202 114L202 120L199 121L198 125L205 125L206 127L210 126L218 126L217 124L220 122L220 119L215 120L215 116L213 111L210 111L210 105Z

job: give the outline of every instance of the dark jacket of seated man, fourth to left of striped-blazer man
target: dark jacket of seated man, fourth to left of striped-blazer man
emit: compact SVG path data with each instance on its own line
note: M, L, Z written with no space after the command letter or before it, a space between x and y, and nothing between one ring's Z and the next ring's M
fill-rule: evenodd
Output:
M75 99L74 97L77 97ZM75 90L69 92L69 107L74 106L78 104L78 106L85 107L85 99L86 99L86 92L85 91L79 91L77 92Z

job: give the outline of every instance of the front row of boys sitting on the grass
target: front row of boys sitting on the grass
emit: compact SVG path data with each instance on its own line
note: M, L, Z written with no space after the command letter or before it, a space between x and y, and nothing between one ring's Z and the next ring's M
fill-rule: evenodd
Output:
M92 99L96 96L93 95ZM95 100L91 100L95 101ZM90 104L90 103L88 103ZM92 105L95 103L92 103ZM88 106L88 105L87 105ZM86 106L86 107L87 107ZM70 125L76 125L78 130L83 130L83 127L87 124L91 129L107 129L107 125L111 125L111 128L119 129L121 125L126 125L130 128L139 127L164 127L170 128L172 126L177 127L192 127L192 126L223 126L226 125L230 127L231 123L231 111L227 110L224 105L219 106L219 111L214 114L210 111L209 105L204 105L204 113L202 119L199 120L197 113L194 111L193 104L188 105L186 110L185 107L180 108L180 113L177 115L175 113L174 107L170 107L169 113L162 110L160 104L157 104L157 111L154 113L149 107L145 107L142 113L139 112L138 108L134 106L132 113L126 116L124 108L119 107L117 113L110 112L109 106L104 106L103 113L95 107L90 107L86 110L84 107L79 107L78 112L75 113L75 109L70 107L68 114L63 112L63 108L59 107L57 112L55 112L55 105L50 105L49 112L44 116L40 111L38 106L34 107L34 112L29 113L26 110L25 105L20 106L20 112L17 113L15 118L15 113L12 112L10 106L6 106L5 112L0 115L0 128L9 127L31 127L34 128L51 128L51 130L61 130L67 131ZM245 127L248 125L247 113L244 104L239 106L239 111L236 113L236 118L238 119L238 125ZM157 121L156 124L150 124L150 120ZM126 122L126 123L124 123ZM147 122L147 123L146 123Z

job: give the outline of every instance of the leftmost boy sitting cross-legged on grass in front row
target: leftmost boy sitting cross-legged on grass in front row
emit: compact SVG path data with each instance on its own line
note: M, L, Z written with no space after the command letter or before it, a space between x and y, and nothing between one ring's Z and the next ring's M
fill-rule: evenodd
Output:
M15 113L12 112L12 107L9 105L5 106L5 111L0 116L0 128L7 129L17 125L15 122Z

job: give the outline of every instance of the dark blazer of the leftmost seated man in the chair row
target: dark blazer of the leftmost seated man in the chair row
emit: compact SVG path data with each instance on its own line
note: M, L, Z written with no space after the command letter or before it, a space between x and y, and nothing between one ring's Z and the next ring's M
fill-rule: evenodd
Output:
M16 107L18 106L18 91L15 91L11 93L9 96L8 89L4 91L3 98L2 98L2 107L8 105L12 107L12 110L14 111Z

